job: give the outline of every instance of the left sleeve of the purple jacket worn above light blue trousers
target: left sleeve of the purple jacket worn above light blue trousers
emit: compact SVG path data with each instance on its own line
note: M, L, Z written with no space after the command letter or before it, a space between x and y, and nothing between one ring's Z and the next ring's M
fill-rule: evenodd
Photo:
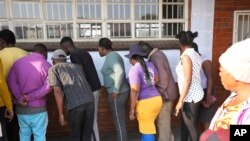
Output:
M15 70L15 64L11 67L9 75L8 75L8 86L13 96L16 98L18 102L23 99L22 92L21 92L21 89L19 88L18 81L17 81L17 73Z

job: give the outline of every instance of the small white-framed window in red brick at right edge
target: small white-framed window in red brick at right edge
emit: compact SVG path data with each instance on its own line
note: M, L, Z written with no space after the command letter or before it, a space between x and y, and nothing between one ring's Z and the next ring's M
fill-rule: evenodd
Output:
M233 42L244 40L245 35L250 32L250 11L236 11L234 13Z

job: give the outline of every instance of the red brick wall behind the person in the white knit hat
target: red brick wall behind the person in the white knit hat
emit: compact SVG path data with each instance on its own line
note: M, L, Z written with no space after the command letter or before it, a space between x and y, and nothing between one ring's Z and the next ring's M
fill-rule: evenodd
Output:
M249 0L215 0L214 40L213 40L213 74L219 103L223 102L229 92L221 85L219 77L219 56L232 44L235 10L250 10Z

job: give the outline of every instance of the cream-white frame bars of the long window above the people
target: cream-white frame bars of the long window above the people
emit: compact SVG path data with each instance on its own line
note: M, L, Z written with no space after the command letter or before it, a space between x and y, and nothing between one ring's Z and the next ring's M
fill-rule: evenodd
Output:
M49 20L46 18L45 15L45 0L39 0L40 2L40 19L36 19L43 25L43 39L17 39L18 42L54 42L60 40L60 38L56 39L49 39L47 38L47 23L73 23L73 35L72 39L75 41L96 41L96 37L91 37L91 38L82 38L78 37L78 29L77 26L79 23L101 23L101 34L102 37L109 37L112 40L116 41L131 41L131 40L175 40L174 37L170 38L167 36L163 35L162 31L162 24L164 23L184 23L184 30L188 29L188 7L189 7L189 2L188 0L184 0L184 13L183 13L183 19L164 19L163 18L163 0L159 0L158 2L158 19L156 20L136 20L135 19L135 13L134 13L134 7L135 7L135 0L131 0L130 2L130 19L108 19L108 0L102 0L101 1L101 19L78 19L77 18L77 0L72 0L72 20ZM0 22L7 22L9 23L9 29L14 31L14 23L19 21L19 22L28 22L30 19L14 19L13 18L13 7L12 3L13 0L5 0L5 3L7 5L6 8L6 13L8 15L7 19L0 19ZM36 21L36 22L37 22ZM108 23L130 23L130 28L131 28L131 37L111 37L107 35L107 26ZM136 37L135 32L136 32L136 23L158 23L159 24L159 31L158 34L159 36L157 37Z

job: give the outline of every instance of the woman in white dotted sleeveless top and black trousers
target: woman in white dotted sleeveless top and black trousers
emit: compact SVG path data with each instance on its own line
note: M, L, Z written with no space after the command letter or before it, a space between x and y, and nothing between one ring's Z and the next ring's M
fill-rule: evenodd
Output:
M180 97L175 107L175 114L181 111L181 141L188 138L198 141L198 114L204 92L201 86L200 55L192 48L193 39L198 33L181 31L176 35L180 41L181 60L176 67Z

